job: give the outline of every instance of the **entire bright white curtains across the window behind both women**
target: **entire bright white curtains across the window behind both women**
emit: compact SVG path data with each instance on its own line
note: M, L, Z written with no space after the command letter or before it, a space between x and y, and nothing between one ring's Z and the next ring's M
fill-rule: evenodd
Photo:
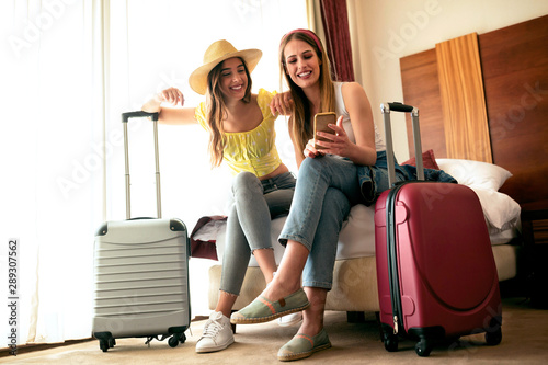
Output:
M253 90L278 89L277 45L307 26L306 3L14 0L1 2L0 26L0 277L8 242L18 239L18 344L89 338L94 231L125 218L119 114L168 87L196 105L203 99L187 77L220 38L261 48ZM132 215L155 216L150 123L129 129ZM294 167L283 119L277 129L281 155ZM192 229L201 216L225 213L230 176L209 169L205 132L159 133L163 216ZM207 287L206 277L191 272L194 315L207 315L205 292L192 292ZM1 333L10 333L11 309L0 308Z

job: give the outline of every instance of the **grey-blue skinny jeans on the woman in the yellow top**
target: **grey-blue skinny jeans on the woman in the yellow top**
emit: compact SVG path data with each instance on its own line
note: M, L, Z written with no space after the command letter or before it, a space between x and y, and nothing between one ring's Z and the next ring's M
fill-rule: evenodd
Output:
M251 172L235 176L235 203L228 214L222 258L222 292L239 295L251 253L272 249L271 219L289 212L294 191L295 178L290 172L263 181Z

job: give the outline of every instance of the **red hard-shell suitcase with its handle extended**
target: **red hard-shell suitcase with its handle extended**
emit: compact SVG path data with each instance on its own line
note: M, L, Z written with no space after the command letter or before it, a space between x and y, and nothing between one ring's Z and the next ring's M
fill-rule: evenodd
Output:
M375 246L380 322L387 351L398 337L418 341L416 354L460 335L486 332L502 340L502 307L491 242L476 193L465 185L426 182L419 111L381 105L391 189L375 207ZM418 181L395 182L390 111L410 112Z

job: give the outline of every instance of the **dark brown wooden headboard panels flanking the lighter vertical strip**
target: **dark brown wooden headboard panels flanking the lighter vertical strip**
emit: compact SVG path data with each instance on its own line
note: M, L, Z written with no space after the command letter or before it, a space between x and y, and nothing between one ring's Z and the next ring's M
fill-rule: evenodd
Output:
M488 124L492 162L513 174L501 192L520 204L548 201L548 15L480 34L477 39L487 107L486 121L478 123ZM450 138L457 137L446 133L452 115L442 107L447 104L447 92L441 89L447 82L441 78L436 48L400 59L403 101L419 107L424 150L433 149L437 158L477 159L448 151L447 146L455 142ZM459 102L480 115L480 106L466 99ZM408 136L412 136L410 121Z

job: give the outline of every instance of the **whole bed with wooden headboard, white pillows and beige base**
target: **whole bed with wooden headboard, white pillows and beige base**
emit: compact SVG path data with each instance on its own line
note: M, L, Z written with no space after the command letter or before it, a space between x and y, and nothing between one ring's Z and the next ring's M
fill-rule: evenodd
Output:
M515 280L521 271L520 206L548 201L546 183L538 179L548 174L547 53L548 15L449 39L400 59L403 102L421 113L425 167L446 171L478 194L500 282ZM458 69L463 65L466 68ZM413 155L411 148L409 163ZM344 223L328 310L379 310L373 213L372 207L355 206ZM284 221L282 217L272 224L277 260L283 248L276 239ZM192 235L193 249L197 256L221 260L224 239L222 219L206 217ZM210 309L217 303L220 272L220 261L209 269ZM253 300L264 285L252 259L235 309Z

